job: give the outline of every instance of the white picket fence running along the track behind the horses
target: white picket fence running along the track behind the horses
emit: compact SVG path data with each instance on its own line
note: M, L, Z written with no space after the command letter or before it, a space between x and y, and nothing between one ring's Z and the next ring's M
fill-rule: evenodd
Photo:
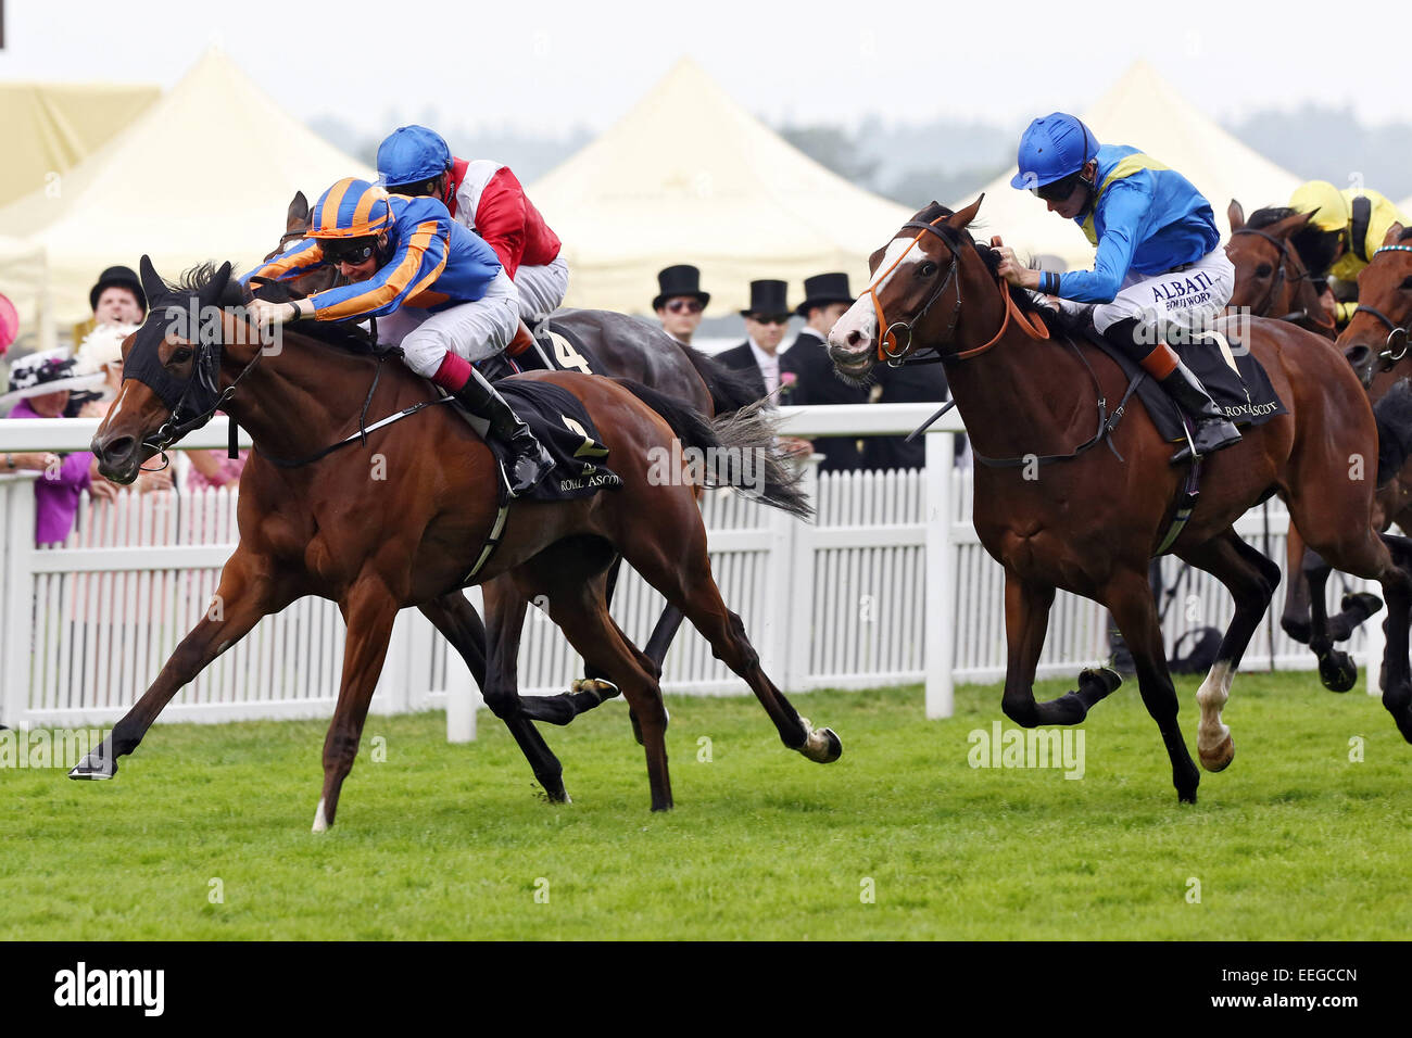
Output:
M789 408L786 432L907 432L931 410ZM217 419L186 446L222 445L223 422ZM95 425L0 421L0 452L82 449ZM716 579L781 688L925 682L929 716L947 716L955 682L994 681L1004 674L1003 573L970 523L970 472L952 465L960 428L955 412L938 424L926 438L926 469L818 476L810 466L815 524L729 491L706 496L702 507ZM816 443L827 449L827 439ZM31 479L0 477L0 720L110 723L151 684L208 607L237 537L236 494L217 489L124 493L116 503L85 499L69 539L35 548ZM1278 501L1251 511L1237 530L1284 565L1288 518ZM1166 559L1163 569L1171 586L1180 563ZM1339 580L1332 583L1337 592ZM479 609L479 589L469 595ZM624 571L613 613L634 641L647 641L662 604L635 573ZM1224 628L1230 614L1230 597L1219 583L1187 573L1165 620L1168 647L1193 626ZM326 716L337 696L343 638L333 603L299 600L263 620L212 664L172 700L164 719ZM1361 640L1354 648L1363 648ZM1107 655L1101 607L1059 595L1039 676L1070 676ZM1309 668L1312 657L1269 624L1255 636L1244 667ZM580 668L556 628L531 609L520 657L522 691L563 691ZM666 658L664 688L746 692L689 624ZM460 658L419 613L404 610L373 709L446 706L450 727L467 737L474 698Z

